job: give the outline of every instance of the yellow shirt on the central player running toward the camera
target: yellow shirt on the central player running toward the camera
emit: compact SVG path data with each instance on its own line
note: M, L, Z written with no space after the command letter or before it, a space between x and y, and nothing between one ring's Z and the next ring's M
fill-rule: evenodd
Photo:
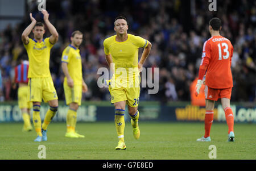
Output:
M146 48L148 41L140 36L128 34L127 40L118 42L115 40L116 36L114 35L104 40L104 52L106 55L112 56L115 65L115 73L113 75L115 79L118 77L124 78L125 74L123 73L126 72L126 78L121 81L126 84L130 78L134 80L135 77L139 76L139 48ZM135 70L129 70L129 68Z

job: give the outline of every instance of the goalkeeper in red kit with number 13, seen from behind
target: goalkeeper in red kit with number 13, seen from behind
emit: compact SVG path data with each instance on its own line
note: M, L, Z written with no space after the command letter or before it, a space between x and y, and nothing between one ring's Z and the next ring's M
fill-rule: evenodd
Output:
M228 124L228 141L234 141L234 116L230 108L230 97L233 87L231 62L233 45L220 35L221 20L213 18L209 22L209 32L212 37L205 41L203 55L199 68L199 80L196 85L196 95L200 92L205 77L205 135L197 141L210 141L210 127L213 123L214 102L221 99Z

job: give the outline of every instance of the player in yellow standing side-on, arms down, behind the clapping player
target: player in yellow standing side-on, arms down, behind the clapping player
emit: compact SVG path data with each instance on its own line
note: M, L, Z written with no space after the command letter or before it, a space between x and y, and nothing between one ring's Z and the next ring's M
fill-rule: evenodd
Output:
M82 43L82 33L74 31L71 35L71 44L63 51L61 68L65 75L64 92L66 104L69 105L67 114L67 133L65 137L84 137L75 131L77 109L81 105L82 92L88 90L82 78L82 61L79 46Z

